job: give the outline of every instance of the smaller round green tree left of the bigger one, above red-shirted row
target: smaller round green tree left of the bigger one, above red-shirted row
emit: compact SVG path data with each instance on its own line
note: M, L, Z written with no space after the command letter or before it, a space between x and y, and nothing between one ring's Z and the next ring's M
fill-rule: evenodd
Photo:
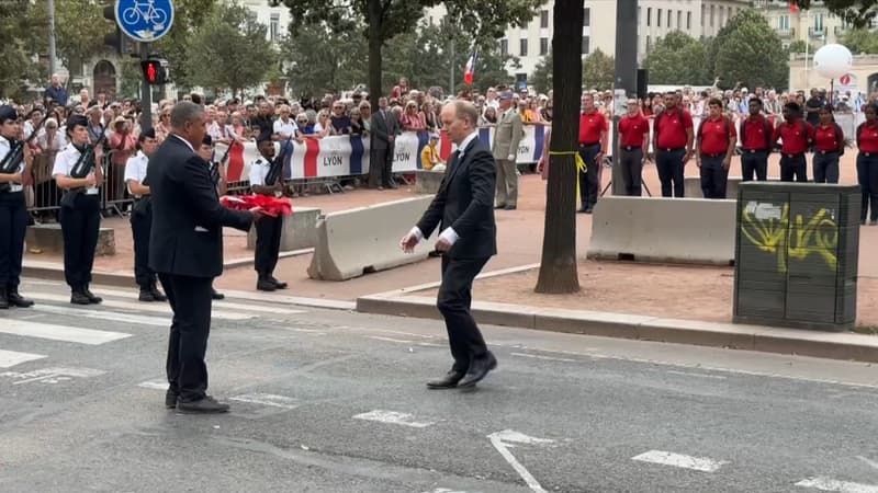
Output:
M712 82L705 64L712 43L701 43L683 31L672 31L653 46L643 60L653 84L705 85Z

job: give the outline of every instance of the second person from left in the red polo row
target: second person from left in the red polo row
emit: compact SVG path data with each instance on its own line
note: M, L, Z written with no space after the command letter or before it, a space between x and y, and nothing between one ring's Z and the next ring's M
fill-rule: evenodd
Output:
M616 156L622 170L624 194L639 197L643 187L643 151L650 146L650 121L640 112L638 100L628 100L628 114L619 121Z

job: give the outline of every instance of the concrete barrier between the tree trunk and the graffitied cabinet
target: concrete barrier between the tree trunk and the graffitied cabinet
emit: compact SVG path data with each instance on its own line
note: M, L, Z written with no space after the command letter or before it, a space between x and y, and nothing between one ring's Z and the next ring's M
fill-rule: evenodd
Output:
M587 257L733 265L735 204L604 197L595 207Z

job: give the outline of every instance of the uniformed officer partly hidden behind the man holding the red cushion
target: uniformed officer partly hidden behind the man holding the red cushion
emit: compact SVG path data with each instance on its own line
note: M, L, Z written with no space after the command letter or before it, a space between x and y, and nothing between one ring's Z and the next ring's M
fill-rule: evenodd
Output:
M158 277L149 268L149 231L153 229L153 204L149 186L144 185L146 165L149 157L156 151L158 140L156 130L147 128L137 137L137 153L125 163L125 183L128 193L134 196L134 208L131 214L131 231L134 239L134 279L140 287L140 301L167 301L168 298L158 290Z

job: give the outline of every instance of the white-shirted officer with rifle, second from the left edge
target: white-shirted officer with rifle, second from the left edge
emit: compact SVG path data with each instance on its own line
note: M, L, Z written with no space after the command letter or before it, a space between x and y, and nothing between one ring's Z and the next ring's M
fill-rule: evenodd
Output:
M101 226L99 186L103 182L103 149L100 145L94 148L94 167L88 175L72 177L79 158L89 148L89 122L85 116L74 115L67 119L67 140L69 144L55 157L52 170L55 183L65 194L60 209L64 278L70 286L71 303L97 305L102 299L89 290L89 284Z

